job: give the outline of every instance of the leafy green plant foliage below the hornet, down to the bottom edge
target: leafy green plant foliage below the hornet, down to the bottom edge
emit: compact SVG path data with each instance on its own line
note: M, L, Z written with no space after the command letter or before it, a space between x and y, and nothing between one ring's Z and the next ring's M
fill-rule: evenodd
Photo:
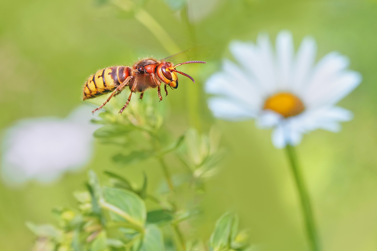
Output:
M119 149L112 160L121 167L139 161L155 161L161 166L165 181L162 188L150 193L148 177L141 184L115 172L105 171L106 184L100 183L92 170L85 189L75 191L77 208L53 210L58 227L27 223L37 235L38 251L165 251L166 249L205 249L203 240L187 239L200 214L205 180L216 174L223 150L220 134L211 128L208 134L189 129L178 137L166 131L161 111L155 101L145 95L142 102L133 100L118 114L109 103L94 123L103 125L94 137ZM175 175L165 159L175 156ZM124 169L121 169L124 170ZM147 206L148 205L148 206ZM187 229L181 230L182 222ZM198 221L196 221L198 222ZM247 246L244 235L237 234L238 218L228 213L216 224L209 247L213 251L238 250ZM173 243L173 246L171 244ZM43 245L42 245L43 244ZM48 249L38 249L40 246Z

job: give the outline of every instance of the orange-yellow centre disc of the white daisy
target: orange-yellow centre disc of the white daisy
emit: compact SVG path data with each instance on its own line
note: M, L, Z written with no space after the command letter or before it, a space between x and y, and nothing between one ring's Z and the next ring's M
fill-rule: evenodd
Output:
M263 109L275 111L287 118L302 113L305 107L296 95L280 92L268 97L264 102Z

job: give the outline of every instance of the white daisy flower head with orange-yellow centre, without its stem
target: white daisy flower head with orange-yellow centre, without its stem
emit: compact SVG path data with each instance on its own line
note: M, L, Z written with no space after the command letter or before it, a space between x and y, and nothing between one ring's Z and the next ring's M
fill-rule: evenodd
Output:
M339 122L352 113L335 106L361 82L362 76L347 70L349 59L338 52L325 55L314 65L316 41L305 37L294 53L292 34L281 31L274 52L268 35L257 43L233 41L230 51L239 65L225 59L223 70L207 81L209 108L225 120L256 119L260 128L274 128L276 148L297 145L302 135L316 129L339 132Z

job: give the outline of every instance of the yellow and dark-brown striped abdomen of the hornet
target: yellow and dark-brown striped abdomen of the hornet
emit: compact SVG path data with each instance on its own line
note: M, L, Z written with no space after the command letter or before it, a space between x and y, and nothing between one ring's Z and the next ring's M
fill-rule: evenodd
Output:
M98 70L84 84L83 100L97 97L115 90L131 72L131 67L115 66Z

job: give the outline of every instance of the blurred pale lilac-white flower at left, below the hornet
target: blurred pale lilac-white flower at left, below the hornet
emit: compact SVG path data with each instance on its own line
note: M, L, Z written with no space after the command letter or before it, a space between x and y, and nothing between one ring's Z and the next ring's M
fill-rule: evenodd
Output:
M49 182L63 172L83 167L92 155L98 125L91 106L81 106L67 118L39 118L18 122L6 131L1 173L5 183Z

